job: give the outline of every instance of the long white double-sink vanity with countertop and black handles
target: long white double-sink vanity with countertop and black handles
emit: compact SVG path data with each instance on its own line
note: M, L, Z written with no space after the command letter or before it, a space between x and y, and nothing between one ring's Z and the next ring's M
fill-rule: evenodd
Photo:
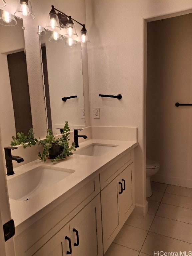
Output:
M42 166L70 172L28 200L10 199L16 256L102 256L134 209L137 144L91 139L56 164L36 160L15 168L8 186Z

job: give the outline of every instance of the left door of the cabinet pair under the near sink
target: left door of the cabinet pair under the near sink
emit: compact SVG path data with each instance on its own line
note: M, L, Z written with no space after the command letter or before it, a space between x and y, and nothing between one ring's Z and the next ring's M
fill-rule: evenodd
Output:
M69 223L44 244L34 256L64 256L67 254L71 254Z

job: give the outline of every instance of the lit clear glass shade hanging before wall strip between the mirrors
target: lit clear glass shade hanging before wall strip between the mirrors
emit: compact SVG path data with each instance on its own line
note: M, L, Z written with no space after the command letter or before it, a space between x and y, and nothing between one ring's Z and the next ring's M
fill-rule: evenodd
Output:
M15 11L15 16L23 20L32 20L35 18L33 14L31 2L27 0L19 0L17 5L17 10Z

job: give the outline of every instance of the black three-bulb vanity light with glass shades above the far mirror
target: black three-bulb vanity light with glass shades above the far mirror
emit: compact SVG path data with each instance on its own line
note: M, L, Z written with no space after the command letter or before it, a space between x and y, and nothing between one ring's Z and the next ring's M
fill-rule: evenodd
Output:
M56 11L58 13L56 13ZM54 8L54 5L51 6L51 11L48 17L48 23L45 29L50 31L60 31L61 29L65 29L64 33L61 33L67 39L74 39L78 37L75 25L73 21L77 22L83 28L81 29L81 41L80 43L88 43L90 42L87 37L87 30L85 28L85 24L81 24L77 20L71 18L71 16L66 15L65 13L59 11L58 9ZM72 41L68 40L69 43Z

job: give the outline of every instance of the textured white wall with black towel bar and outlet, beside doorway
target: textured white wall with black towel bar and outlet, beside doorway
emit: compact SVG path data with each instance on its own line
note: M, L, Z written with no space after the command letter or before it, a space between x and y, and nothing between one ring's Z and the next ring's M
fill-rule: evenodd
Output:
M94 126L138 127L136 151L136 203L145 194L145 19L189 10L189 0L87 0L89 86L91 111L100 108ZM187 12L190 12L187 11ZM174 14L175 15L175 14ZM105 99L102 94L122 94Z

